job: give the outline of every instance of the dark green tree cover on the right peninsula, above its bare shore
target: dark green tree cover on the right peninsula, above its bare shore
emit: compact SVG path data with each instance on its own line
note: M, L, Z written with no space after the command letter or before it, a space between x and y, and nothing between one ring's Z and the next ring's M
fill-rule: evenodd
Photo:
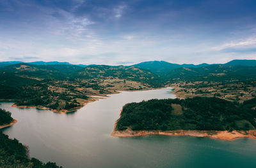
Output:
M152 99L126 104L117 130L255 129L255 100L239 104L216 97Z

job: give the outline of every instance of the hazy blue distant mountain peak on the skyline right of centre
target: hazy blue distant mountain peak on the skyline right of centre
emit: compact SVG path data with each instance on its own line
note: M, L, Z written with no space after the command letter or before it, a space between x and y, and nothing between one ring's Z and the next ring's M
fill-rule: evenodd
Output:
M151 71L152 73L156 74L164 74L167 73L168 71L171 71L172 69L177 69L180 67L202 67L202 66L209 66L209 64L199 64L199 65L194 65L194 64L172 64L170 62L165 62L163 60L158 61L147 61L147 62L141 62L140 64L134 64L132 66L135 67L140 67L142 69L147 69L148 71Z

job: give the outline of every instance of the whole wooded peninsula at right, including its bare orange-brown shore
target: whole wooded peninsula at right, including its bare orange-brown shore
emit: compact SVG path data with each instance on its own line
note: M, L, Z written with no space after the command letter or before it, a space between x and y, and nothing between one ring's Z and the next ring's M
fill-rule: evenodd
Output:
M111 135L256 138L255 106L256 98L243 104L217 97L132 102L123 107Z

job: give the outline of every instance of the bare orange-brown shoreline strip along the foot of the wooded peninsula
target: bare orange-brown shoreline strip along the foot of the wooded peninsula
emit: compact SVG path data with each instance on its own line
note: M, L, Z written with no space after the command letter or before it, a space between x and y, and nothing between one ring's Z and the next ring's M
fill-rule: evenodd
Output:
M119 120L119 119L118 119ZM140 136L193 136L193 137L210 137L212 139L222 139L231 141L237 138L256 139L256 130L233 130L232 132L221 130L116 130L116 120L111 136L113 137L140 137Z

